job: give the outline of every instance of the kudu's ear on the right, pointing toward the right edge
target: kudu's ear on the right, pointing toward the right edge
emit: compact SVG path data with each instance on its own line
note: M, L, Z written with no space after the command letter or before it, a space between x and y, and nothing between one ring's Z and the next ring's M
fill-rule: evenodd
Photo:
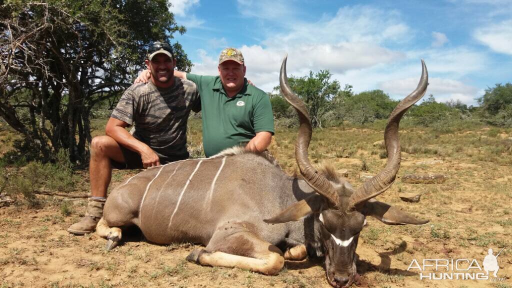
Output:
M404 224L425 224L429 220L420 220L416 217L400 211L398 208L391 206L390 204L379 202L373 199L366 201L361 213L370 215L382 223L388 225L404 225Z

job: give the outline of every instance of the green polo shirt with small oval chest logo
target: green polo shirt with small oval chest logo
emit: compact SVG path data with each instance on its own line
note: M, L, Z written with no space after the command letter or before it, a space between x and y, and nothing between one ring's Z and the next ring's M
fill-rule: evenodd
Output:
M201 97L203 148L206 157L249 142L257 132L274 134L274 117L267 93L245 80L244 87L229 98L220 76L188 74Z

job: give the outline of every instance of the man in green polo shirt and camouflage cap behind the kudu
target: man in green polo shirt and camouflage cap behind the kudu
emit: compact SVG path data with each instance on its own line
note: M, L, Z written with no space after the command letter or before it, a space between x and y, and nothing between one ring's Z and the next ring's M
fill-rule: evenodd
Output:
M193 81L201 97L203 148L207 157L226 148L245 145L263 152L274 134L270 99L245 79L244 57L238 49L222 50L219 76L200 76L175 71L174 75ZM145 70L138 81L147 81Z

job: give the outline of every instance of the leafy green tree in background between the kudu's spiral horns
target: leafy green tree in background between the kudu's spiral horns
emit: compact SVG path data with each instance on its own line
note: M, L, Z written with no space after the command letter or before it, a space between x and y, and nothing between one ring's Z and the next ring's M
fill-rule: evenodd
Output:
M331 81L329 70L320 70L308 76L288 78L291 89L308 107L313 127L322 127L322 117L333 108L332 99L338 94L340 86L337 80ZM279 90L279 86L274 90Z

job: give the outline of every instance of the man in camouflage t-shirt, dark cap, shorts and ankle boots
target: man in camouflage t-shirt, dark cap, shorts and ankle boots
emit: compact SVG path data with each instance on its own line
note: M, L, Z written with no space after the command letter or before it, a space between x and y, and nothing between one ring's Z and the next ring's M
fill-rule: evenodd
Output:
M103 215L112 167L137 169L188 158L186 127L190 110L200 111L196 85L174 76L176 59L166 43L155 42L145 60L152 77L126 89L105 127L91 142L91 194L86 216L68 232L93 232ZM132 135L125 128L134 126Z

